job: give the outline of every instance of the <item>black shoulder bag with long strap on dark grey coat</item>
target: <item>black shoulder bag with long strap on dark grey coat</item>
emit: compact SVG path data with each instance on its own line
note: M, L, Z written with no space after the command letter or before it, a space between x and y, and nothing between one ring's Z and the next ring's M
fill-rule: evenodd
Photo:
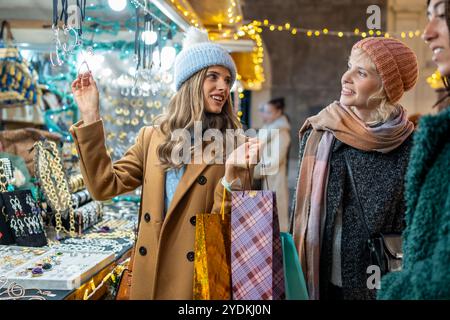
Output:
M350 183L355 192L356 201L358 202L361 220L363 221L368 236L367 248L369 249L370 263L371 265L379 266L382 275L392 271L400 271L403 262L402 235L399 233L379 233L377 235L372 235L370 233L366 216L364 215L364 209L356 189L352 168L350 167L347 155L344 155L344 158L350 177Z

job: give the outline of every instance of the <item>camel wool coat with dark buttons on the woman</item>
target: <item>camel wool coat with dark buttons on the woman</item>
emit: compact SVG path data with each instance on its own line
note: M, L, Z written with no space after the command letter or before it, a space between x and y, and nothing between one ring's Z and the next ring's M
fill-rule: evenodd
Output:
M106 151L102 120L86 126L80 121L70 132L94 199L111 199L142 185L130 299L192 299L195 215L220 213L225 166L188 164L163 219L165 174L156 153L163 136L158 129L143 127L136 143L114 163ZM227 192L225 212L230 210Z

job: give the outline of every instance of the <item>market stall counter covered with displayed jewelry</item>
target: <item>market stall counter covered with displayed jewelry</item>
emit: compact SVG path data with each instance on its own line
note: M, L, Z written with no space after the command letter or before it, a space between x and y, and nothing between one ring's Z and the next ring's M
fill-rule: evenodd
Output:
M103 220L45 247L0 246L0 300L113 299L135 239L139 204L103 205Z

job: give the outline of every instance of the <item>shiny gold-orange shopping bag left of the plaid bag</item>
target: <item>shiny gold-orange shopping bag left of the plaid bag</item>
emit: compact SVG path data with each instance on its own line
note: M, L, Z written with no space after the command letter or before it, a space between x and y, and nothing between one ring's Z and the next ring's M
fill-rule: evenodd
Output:
M198 213L195 222L194 300L231 299L230 215Z

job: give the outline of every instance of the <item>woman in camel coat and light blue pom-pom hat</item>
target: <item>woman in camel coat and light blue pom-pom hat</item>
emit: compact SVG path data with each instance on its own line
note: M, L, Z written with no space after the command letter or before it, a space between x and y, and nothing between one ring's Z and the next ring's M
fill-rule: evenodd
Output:
M206 39L185 45L175 62L177 93L168 113L157 126L142 128L136 143L115 163L105 148L95 81L83 76L72 84L82 121L71 133L88 190L95 199L106 200L142 185L130 298L192 299L195 215L220 212L224 187L239 189L245 172L230 159L245 154L241 164L255 163L259 144L249 139L225 164L180 165L171 158L180 142L172 140L172 133L192 130L194 120L221 132L239 128L230 100L233 60ZM230 193L225 194L225 212L230 213Z

